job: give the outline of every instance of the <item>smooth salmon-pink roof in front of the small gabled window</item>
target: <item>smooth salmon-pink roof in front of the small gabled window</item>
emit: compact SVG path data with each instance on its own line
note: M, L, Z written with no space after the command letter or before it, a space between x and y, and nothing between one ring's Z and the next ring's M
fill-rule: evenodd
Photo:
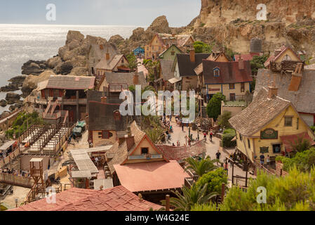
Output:
M114 165L121 185L129 191L182 188L189 175L176 161Z

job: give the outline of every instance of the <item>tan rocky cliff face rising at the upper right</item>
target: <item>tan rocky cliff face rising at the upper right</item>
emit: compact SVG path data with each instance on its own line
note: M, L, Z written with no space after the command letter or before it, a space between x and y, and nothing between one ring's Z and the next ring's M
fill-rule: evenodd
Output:
M258 21L258 4L267 6L267 20ZM217 42L246 53L250 39L263 39L264 51L281 44L295 50L315 52L314 0L201 0L201 13L194 23L194 37Z

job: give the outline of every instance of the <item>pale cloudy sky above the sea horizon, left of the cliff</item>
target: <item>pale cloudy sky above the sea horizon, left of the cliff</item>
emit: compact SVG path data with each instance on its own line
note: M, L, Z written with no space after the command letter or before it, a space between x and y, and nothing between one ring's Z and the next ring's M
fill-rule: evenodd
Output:
M55 4L55 21L46 20L48 4ZM166 15L170 27L181 27L200 8L201 0L0 0L0 24L148 26Z

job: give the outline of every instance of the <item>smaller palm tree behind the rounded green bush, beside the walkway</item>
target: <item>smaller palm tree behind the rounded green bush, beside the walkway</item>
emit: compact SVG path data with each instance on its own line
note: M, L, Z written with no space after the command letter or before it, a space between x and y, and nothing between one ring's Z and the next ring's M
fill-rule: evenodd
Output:
M188 163L186 171L188 169L192 169L194 170L194 172L196 172L196 174L198 174L199 177L201 177L203 174L217 169L217 166L214 165L214 162L216 162L216 160L210 160L209 157L200 161L195 160L194 158L188 158L186 162Z

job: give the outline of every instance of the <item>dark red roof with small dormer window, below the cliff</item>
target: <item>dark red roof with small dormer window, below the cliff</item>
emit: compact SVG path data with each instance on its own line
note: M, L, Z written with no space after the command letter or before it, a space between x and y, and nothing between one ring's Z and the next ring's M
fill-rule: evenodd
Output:
M243 61L244 69L239 70L239 62L215 62L203 60L203 77L205 84L234 84L253 82L250 61ZM214 76L214 69L220 69L220 76Z

